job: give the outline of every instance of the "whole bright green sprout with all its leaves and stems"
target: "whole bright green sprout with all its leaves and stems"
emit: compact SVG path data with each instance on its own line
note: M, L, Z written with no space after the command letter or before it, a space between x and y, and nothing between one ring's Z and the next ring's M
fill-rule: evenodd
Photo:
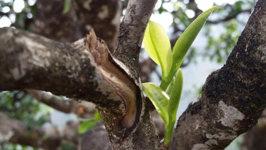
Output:
M142 87L164 121L164 144L166 146L171 143L176 113L182 93L183 75L180 65L191 44L215 8L216 6L204 11L187 27L175 43L173 54L169 38L160 24L149 21L145 31L144 48L151 59L161 67L162 79L160 86L148 82L143 83Z

